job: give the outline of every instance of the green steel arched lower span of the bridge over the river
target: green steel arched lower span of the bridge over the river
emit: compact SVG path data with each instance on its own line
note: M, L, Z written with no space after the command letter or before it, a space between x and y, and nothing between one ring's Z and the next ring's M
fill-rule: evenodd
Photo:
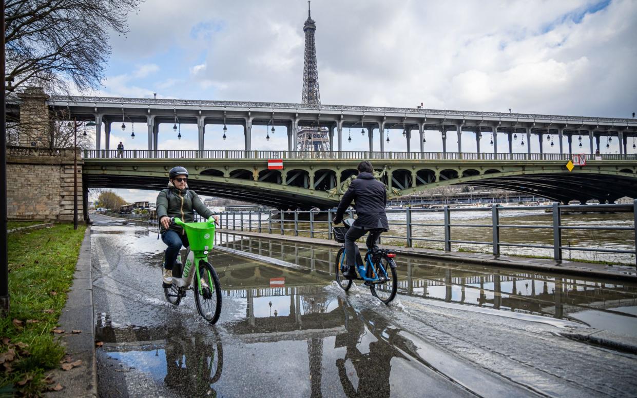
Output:
M453 155L453 156L452 156ZM176 162L190 171L189 186L200 194L266 204L280 209L329 208L338 203L341 182L356 174L362 159L376 169L397 195L443 185L503 188L568 202L598 199L612 203L637 197L635 155L606 155L585 167L566 169L568 155L417 152L244 152L124 151L124 159L83 153L83 174L91 188L166 186ZM201 158L199 156L206 156ZM269 170L267 159L283 158L283 170Z

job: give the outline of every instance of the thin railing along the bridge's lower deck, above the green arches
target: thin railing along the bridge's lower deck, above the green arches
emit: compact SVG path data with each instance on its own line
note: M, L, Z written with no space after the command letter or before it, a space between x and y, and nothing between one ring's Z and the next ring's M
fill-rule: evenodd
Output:
M83 150L83 159L333 159L333 160L562 160L568 153L367 152L243 150ZM588 155L589 160L637 160L637 153Z

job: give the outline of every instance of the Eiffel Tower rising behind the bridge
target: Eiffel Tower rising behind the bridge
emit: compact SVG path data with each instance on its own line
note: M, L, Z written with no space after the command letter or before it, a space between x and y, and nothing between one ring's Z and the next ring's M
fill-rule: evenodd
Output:
M314 43L314 31L317 25L311 17L310 1L308 1L308 19L303 24L305 32L305 60L303 64L303 93L302 104L320 105L318 91L317 50ZM303 126L297 130L296 148L301 151L329 151L329 136L326 127L318 124Z

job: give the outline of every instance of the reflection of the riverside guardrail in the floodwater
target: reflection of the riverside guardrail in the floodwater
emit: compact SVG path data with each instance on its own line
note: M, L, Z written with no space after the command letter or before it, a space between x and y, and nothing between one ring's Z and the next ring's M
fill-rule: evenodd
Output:
M317 278L331 280L333 274L337 248L330 246L222 233L218 234L217 242L237 250L299 264L306 269L307 275ZM555 318L571 319L574 313L587 309L617 313L631 323L637 318L630 313L610 309L637 305L637 285L634 282L617 283L592 277L452 264L407 256L397 257L396 263L399 294Z

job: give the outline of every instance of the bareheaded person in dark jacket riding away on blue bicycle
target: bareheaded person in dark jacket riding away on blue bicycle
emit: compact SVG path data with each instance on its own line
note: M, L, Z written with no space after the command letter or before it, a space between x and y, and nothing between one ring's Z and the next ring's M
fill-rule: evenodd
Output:
M374 169L368 161L360 162L358 171L358 177L347 188L341 203L338 204L336 217L334 217L334 224L339 224L343 221L343 215L350 203L355 202L354 208L358 217L345 234L345 252L347 252L345 264L347 265L343 266L343 276L348 279L356 278L356 240L369 231L367 247L371 250L376 248L376 240L380 234L389 229L385 214L385 206L387 205L385 185L375 180L372 174Z

